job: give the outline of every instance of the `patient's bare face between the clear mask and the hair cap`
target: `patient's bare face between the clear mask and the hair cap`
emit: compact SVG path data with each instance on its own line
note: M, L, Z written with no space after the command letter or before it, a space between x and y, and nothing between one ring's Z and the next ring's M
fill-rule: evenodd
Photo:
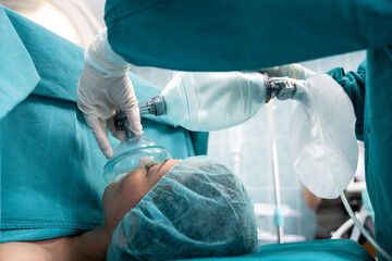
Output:
M179 162L180 160L168 160L148 169L143 167L109 184L102 197L106 223L114 228L124 215Z

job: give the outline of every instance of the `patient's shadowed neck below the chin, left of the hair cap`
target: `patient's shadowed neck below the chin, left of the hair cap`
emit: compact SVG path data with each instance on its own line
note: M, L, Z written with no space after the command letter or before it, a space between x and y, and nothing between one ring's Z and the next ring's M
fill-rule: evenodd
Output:
M103 224L97 228L72 238L72 260L106 260L106 253L112 237L113 228Z

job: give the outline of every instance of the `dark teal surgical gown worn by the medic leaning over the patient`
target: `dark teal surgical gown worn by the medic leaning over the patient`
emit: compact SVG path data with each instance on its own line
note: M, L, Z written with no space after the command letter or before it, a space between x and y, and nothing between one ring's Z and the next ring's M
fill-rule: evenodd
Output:
M256 70L368 49L359 77L330 74L353 101L376 239L392 253L392 1L107 0L105 21L127 62L180 71Z

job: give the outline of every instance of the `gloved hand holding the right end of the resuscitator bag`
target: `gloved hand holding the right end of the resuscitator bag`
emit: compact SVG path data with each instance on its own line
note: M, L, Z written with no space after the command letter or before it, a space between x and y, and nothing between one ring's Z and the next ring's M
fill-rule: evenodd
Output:
M307 79L313 76L315 72L304 67L297 63L291 63L282 66L262 69L260 73L267 74L269 77L285 77L294 79Z

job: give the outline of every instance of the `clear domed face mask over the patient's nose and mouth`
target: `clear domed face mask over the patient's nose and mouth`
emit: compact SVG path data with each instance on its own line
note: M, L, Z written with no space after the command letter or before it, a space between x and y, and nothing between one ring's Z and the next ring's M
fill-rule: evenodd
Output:
M124 132L125 138L103 166L103 178L107 183L118 181L126 173L144 167L145 163L159 163L171 159L164 147L147 137L133 135L124 111L120 111L114 116L114 126L118 130Z

